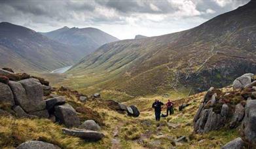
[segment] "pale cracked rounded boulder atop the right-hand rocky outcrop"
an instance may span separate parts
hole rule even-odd
[[[249,74],[236,78],[233,82],[233,89],[236,90],[244,88],[247,84],[251,84],[251,76],[249,76]]]

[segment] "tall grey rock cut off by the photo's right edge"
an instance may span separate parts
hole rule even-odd
[[[256,100],[246,101],[244,122],[242,124],[243,140],[256,146]]]

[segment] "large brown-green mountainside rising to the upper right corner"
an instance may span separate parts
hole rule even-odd
[[[227,86],[256,72],[255,18],[256,1],[250,1],[186,31],[105,44],[68,73],[85,82],[74,86],[84,92],[146,95]]]

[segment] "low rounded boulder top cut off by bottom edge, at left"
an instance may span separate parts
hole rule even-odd
[[[20,144],[16,149],[60,149],[59,146],[43,141],[26,141]]]

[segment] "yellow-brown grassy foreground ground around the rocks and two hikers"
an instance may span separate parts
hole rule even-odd
[[[191,135],[192,118],[204,93],[190,97],[178,93],[170,93],[168,98],[161,96],[137,97],[126,104],[136,105],[141,110],[139,118],[119,114],[104,107],[101,101],[88,101],[84,104],[70,93],[58,92],[58,94],[65,95],[68,103],[75,108],[90,109],[90,112],[80,111],[79,118],[81,120],[94,119],[100,122],[101,131],[106,137],[99,142],[86,142],[76,137],[64,135],[61,130],[64,126],[54,124],[50,120],[17,119],[5,116],[0,117],[1,148],[14,148],[28,140],[52,142],[62,148],[168,148],[172,146],[172,141],[181,135],[189,136],[191,141],[180,144],[177,148],[219,148],[219,146],[238,136],[236,130],[229,129],[212,131],[206,135]],[[168,118],[162,118],[160,122],[155,122],[151,103],[155,99],[166,102],[169,98],[174,100],[175,114]],[[181,103],[191,103],[191,105],[185,108],[183,112],[179,112],[177,107]],[[96,111],[99,113],[98,116],[91,115],[95,114]],[[167,122],[181,124],[181,127],[177,129],[169,128]],[[149,123],[149,125],[146,123]],[[156,124],[161,126],[157,128]],[[115,130],[119,131],[116,138],[120,140],[119,144],[112,143]],[[163,135],[158,135],[158,133]],[[152,144],[154,141],[160,141],[161,143],[160,145],[154,145]]]

